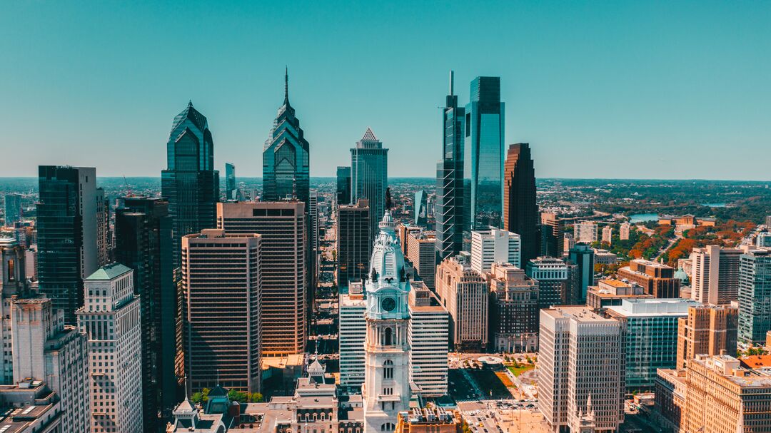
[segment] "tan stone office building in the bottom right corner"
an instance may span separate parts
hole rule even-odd
[[[771,378],[729,355],[699,355],[685,372],[682,431],[771,431]]]

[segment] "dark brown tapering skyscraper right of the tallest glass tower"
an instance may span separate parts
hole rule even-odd
[[[503,169],[503,230],[522,237],[525,262],[538,257],[538,205],[535,202],[535,168],[530,145],[509,146]]]

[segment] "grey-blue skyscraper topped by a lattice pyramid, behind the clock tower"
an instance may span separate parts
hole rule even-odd
[[[388,149],[367,128],[356,147],[351,149],[351,203],[369,201],[372,215],[369,233],[378,233],[378,221],[385,212],[385,189],[388,188]]]

